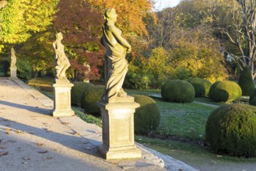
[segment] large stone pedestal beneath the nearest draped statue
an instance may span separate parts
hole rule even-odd
[[[105,159],[142,157],[134,142],[134,113],[139,103],[132,96],[117,97],[117,103],[98,102],[102,114],[103,145],[98,151]]]

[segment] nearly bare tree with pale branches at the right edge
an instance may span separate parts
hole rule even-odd
[[[230,54],[233,61],[237,61],[240,68],[248,65],[251,68],[253,78],[256,78],[254,67],[256,54],[256,2],[247,0],[221,1],[218,6],[226,9],[226,15],[219,16],[214,11],[216,5],[209,0],[203,0],[208,5],[209,16],[214,23],[217,23],[216,30],[219,30],[226,39],[230,40],[230,46],[226,46],[226,52]],[[222,21],[226,21],[223,23]],[[234,48],[236,47],[236,48]]]

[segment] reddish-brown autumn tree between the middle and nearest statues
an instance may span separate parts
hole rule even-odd
[[[101,26],[103,17],[87,1],[61,0],[58,13],[54,19],[55,32],[64,35],[63,44],[72,64],[73,79],[82,79],[89,69],[89,79],[99,79],[103,59],[103,48],[100,47]]]

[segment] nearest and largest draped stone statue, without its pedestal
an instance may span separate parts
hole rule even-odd
[[[104,13],[104,20],[103,36],[100,42],[106,48],[104,57],[106,88],[102,100],[113,103],[117,96],[127,95],[122,89],[124,77],[128,72],[128,62],[125,55],[131,52],[132,47],[127,40],[121,37],[121,30],[114,25],[117,21],[117,14],[114,9],[108,9]]]

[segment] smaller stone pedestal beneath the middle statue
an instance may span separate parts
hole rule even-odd
[[[55,83],[54,87],[54,109],[53,117],[70,117],[75,115],[71,109],[71,88],[74,86],[70,82]]]

